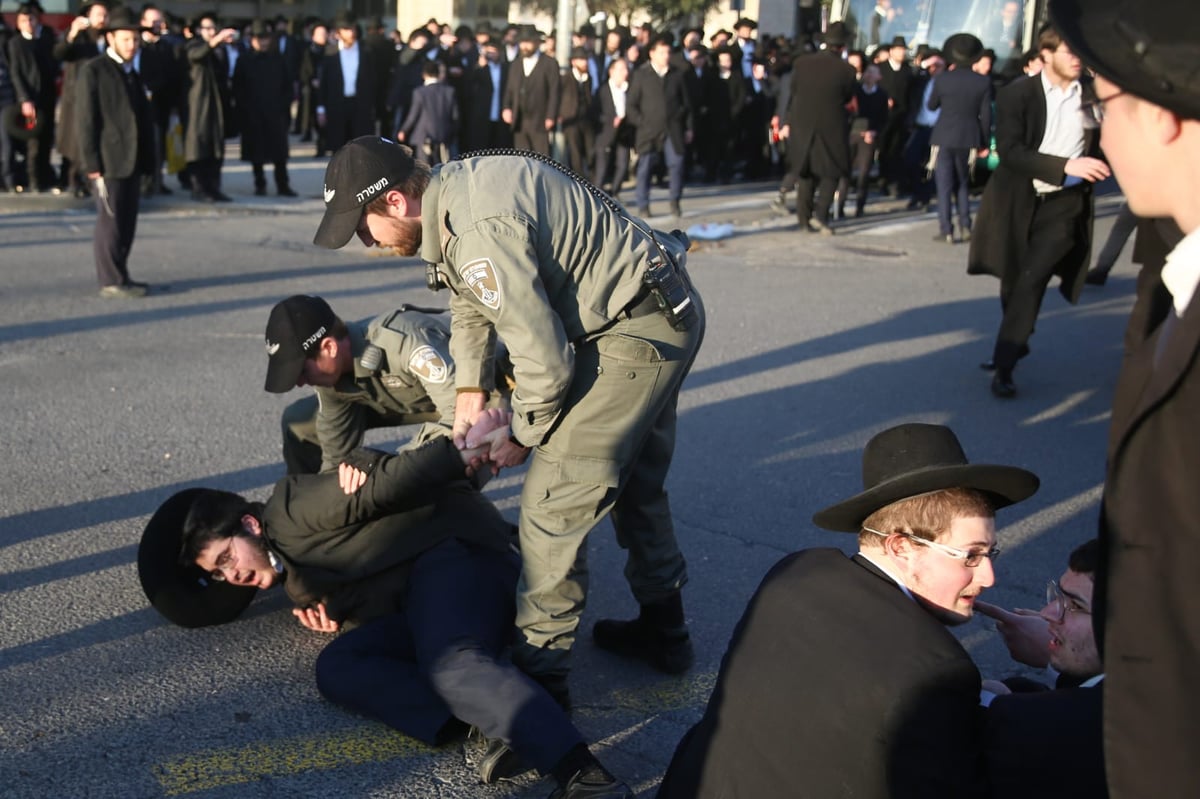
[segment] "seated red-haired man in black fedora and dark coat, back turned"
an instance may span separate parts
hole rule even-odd
[[[947,626],[994,582],[995,511],[1038,479],[910,423],[868,441],[863,485],[812,517],[857,533],[858,554],[770,570],[659,799],[983,794],[979,672]]]

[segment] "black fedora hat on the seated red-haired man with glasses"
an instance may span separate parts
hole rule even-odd
[[[973,488],[1000,509],[1031,497],[1038,483],[1036,474],[1018,467],[968,463],[949,427],[899,425],[877,433],[863,449],[863,491],[818,511],[812,523],[858,533],[881,507],[944,488]]]

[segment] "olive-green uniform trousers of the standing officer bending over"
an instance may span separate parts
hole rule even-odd
[[[677,593],[688,567],[664,487],[674,452],[679,388],[704,336],[704,308],[677,331],[661,313],[618,319],[575,344],[562,415],[533,452],[521,494],[514,660],[565,674],[587,600],[586,539],[610,511],[638,603]],[[522,641],[523,639],[523,641]]]

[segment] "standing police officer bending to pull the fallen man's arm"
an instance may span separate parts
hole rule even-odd
[[[358,234],[367,246],[420,252],[431,287],[451,289],[460,446],[475,440],[496,336],[509,347],[511,438],[497,439],[488,458],[511,467],[536,449],[521,498],[517,662],[569,703],[584,539],[611,511],[641,613],[599,621],[596,644],[668,673],[690,667],[686,565],[664,489],[679,388],[704,331],[685,238],[649,229],[530,154],[431,173],[408,148],[362,137],[330,161],[325,197],[317,245]]]

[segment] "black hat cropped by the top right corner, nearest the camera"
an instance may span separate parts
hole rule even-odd
[[[1200,2],[1050,0],[1050,20],[1099,76],[1200,119]]]

